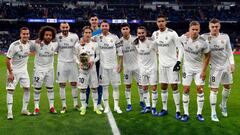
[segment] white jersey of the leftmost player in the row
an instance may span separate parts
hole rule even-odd
[[[20,40],[13,42],[7,52],[7,57],[11,58],[11,67],[14,72],[27,70],[28,57],[32,42],[23,44]]]

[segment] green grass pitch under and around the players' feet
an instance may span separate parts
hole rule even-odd
[[[210,118],[209,88],[206,81],[205,102],[203,116],[205,122],[196,120],[197,102],[195,86],[191,87],[190,92],[190,120],[186,123],[175,119],[175,105],[172,98],[172,91],[169,90],[168,110],[166,117],[153,117],[151,114],[140,114],[139,96],[134,83],[132,89],[132,112],[125,112],[126,100],[124,94],[124,85],[120,86],[120,107],[123,114],[113,112],[116,123],[122,135],[239,135],[240,134],[240,77],[238,70],[240,56],[235,55],[236,70],[234,73],[234,84],[230,98],[228,100],[229,117],[221,116],[220,109],[217,105],[217,114],[220,122],[212,122]],[[56,66],[56,64],[55,64]],[[33,73],[33,57],[29,58],[28,63],[30,78]],[[32,79],[32,78],[31,78]],[[208,78],[207,78],[208,79]],[[22,116],[23,90],[18,86],[14,94],[13,113],[14,120],[7,120],[6,104],[6,64],[5,56],[0,55],[0,135],[109,135],[112,134],[111,127],[108,123],[107,115],[97,115],[93,113],[92,102],[87,109],[85,116],[80,116],[78,111],[73,110],[72,96],[70,87],[66,88],[68,112],[66,114],[50,114],[47,100],[46,89],[41,92],[40,115],[39,116]],[[159,88],[159,87],[158,87]],[[182,92],[182,87],[180,86]],[[60,111],[61,101],[59,96],[59,87],[55,84],[55,107]],[[221,99],[221,90],[218,94],[218,104]],[[111,91],[112,92],[112,91]],[[110,92],[110,106],[113,110],[112,93]],[[160,89],[157,110],[162,108]],[[182,96],[181,96],[182,97]],[[33,112],[33,89],[31,88],[31,100],[29,110]],[[182,101],[181,101],[181,111]]]

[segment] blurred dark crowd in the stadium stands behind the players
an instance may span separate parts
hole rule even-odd
[[[240,35],[239,28],[234,28],[235,26],[239,26],[238,24],[240,23],[240,6],[237,2],[229,8],[219,8],[215,4],[221,1],[217,0],[211,0],[212,4],[210,5],[208,4],[209,1],[206,3],[204,0],[197,0],[194,2],[189,0],[168,0],[167,2],[169,3],[179,3],[179,8],[176,10],[166,5],[156,5],[154,9],[144,7],[143,3],[151,3],[153,0],[91,1],[95,3],[92,6],[83,6],[81,5],[83,1],[79,0],[69,0],[67,1],[68,3],[64,0],[18,0],[18,2],[22,2],[22,4],[18,5],[14,3],[0,3],[0,20],[16,19],[17,21],[26,22],[27,18],[71,18],[77,19],[77,22],[86,23],[88,17],[92,13],[95,13],[100,19],[137,19],[154,21],[159,14],[165,14],[168,16],[170,26],[172,25],[173,29],[181,35],[186,32],[188,27],[187,24],[191,20],[197,20],[205,24],[203,32],[207,32],[207,22],[214,17],[225,22],[223,32],[230,35],[233,47],[237,48],[236,50],[240,50],[240,36],[238,36]],[[99,7],[96,3],[102,3],[103,6]],[[187,6],[184,6],[184,4],[182,5],[182,3]],[[189,6],[189,4],[193,6]],[[196,4],[199,6],[196,7]],[[201,6],[202,4],[205,5]],[[234,22],[235,26],[229,22]],[[18,39],[18,30],[22,25],[19,23],[11,24],[11,22],[5,25],[2,21],[0,21],[0,23],[0,50],[6,51],[9,44]],[[185,27],[182,27],[182,24],[184,24]],[[85,24],[73,25],[75,26],[72,31],[78,32]],[[149,33],[157,29],[155,23],[145,23],[144,25],[149,29]],[[135,25],[133,25],[133,27],[134,26]],[[58,28],[58,26],[55,27]],[[37,36],[39,28],[39,24],[31,25],[32,38]],[[112,32],[119,35],[119,26],[116,25],[116,27],[112,28]]]

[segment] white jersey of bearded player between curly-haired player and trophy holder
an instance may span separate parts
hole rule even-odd
[[[74,62],[74,46],[79,41],[77,34],[69,32],[65,37],[59,33],[56,40],[58,42],[58,61]]]

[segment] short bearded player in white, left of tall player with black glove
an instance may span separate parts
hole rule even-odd
[[[157,92],[157,55],[156,48],[152,39],[146,37],[147,31],[143,26],[138,27],[138,38],[134,41],[133,46],[138,52],[138,65],[140,69],[140,85],[143,87],[143,98],[146,104],[141,113],[149,113],[150,107],[150,94],[148,85],[152,87],[152,115],[157,116],[156,111],[158,92]]]

